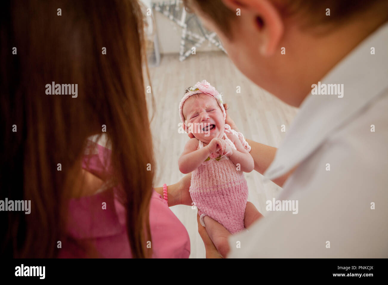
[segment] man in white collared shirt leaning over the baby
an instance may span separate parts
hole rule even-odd
[[[248,141],[256,171],[283,191],[265,218],[229,238],[227,257],[388,257],[387,4],[326,10],[334,19],[315,27],[302,12],[284,16],[281,2],[222,0],[241,12],[225,12],[228,28],[191,6],[246,76],[300,107],[278,150]]]

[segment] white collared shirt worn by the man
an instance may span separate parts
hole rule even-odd
[[[342,98],[305,98],[264,173],[272,180],[300,164],[276,197],[297,214],[263,213],[229,238],[228,257],[388,257],[387,52],[385,23],[321,79],[343,84]]]

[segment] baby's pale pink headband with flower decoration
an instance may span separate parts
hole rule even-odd
[[[185,123],[185,117],[183,116],[183,104],[191,95],[198,94],[198,93],[204,93],[204,94],[210,95],[211,97],[217,100],[217,103],[220,106],[223,113],[223,119],[225,121],[226,112],[222,103],[222,95],[218,93],[216,88],[211,86],[208,81],[202,80],[201,82],[197,82],[194,86],[186,88],[185,95],[183,96],[182,100],[180,100],[179,116],[182,123]]]

